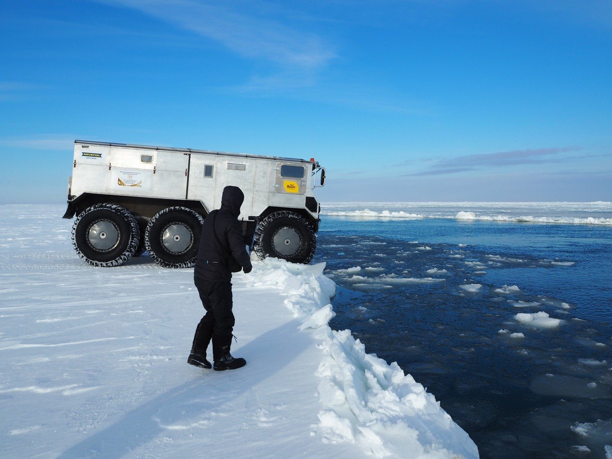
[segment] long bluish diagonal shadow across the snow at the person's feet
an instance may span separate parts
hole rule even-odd
[[[120,457],[154,439],[166,430],[166,426],[193,426],[194,419],[203,419],[208,412],[257,386],[299,356],[312,341],[307,334],[300,333],[297,325],[297,321],[292,320],[237,348],[236,355],[247,359],[247,366],[239,370],[213,372],[190,367],[193,371],[201,371],[200,377],[132,409],[122,419],[73,445],[58,458]],[[218,384],[220,379],[222,384]],[[206,424],[206,421],[200,422]]]

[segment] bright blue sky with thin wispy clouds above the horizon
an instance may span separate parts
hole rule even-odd
[[[0,5],[0,203],[75,139],[315,157],[323,201],[612,200],[612,3]]]

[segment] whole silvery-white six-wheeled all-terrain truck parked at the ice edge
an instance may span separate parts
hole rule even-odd
[[[163,267],[190,267],[204,217],[226,185],[240,187],[245,243],[259,258],[308,263],[321,206],[314,159],[75,141],[68,209],[72,243],[93,266],[119,266],[146,250]]]

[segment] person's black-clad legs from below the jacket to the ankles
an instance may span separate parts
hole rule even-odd
[[[231,345],[234,330],[234,313],[232,312],[231,282],[208,282],[201,277],[194,276],[193,282],[206,315],[201,319],[195,330],[192,348],[206,355],[206,349],[212,338],[213,359],[218,360],[222,348]]]

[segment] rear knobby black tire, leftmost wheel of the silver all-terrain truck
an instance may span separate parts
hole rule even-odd
[[[94,204],[76,217],[72,245],[92,266],[111,267],[132,258],[140,242],[134,216],[117,204]]]

